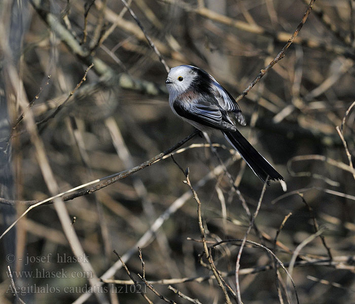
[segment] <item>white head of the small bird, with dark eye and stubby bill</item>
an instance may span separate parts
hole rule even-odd
[[[196,67],[179,65],[170,69],[166,79],[166,88],[170,97],[184,93],[197,77]]]

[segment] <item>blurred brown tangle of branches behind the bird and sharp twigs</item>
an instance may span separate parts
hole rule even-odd
[[[199,66],[234,97],[280,52],[309,5],[308,0],[127,2],[169,67]],[[279,182],[266,188],[255,220],[259,233],[252,229],[247,239],[270,248],[286,268],[297,257],[292,277],[302,303],[354,302],[355,110],[349,108],[355,99],[354,16],[354,1],[317,0],[285,58],[239,101],[247,121],[240,132],[287,184],[286,192]],[[30,103],[60,191],[137,166],[194,131],[173,115],[164,65],[118,0],[3,0],[0,75],[2,233],[30,204],[51,196],[19,119],[21,96]],[[190,169],[207,245],[243,239],[250,219],[242,202],[254,213],[263,188],[220,134],[211,140],[230,175],[203,137],[174,154]],[[201,303],[224,302],[207,260],[199,258],[197,204],[185,179],[167,157],[65,203],[84,262],[103,275],[96,286],[102,297],[89,295],[93,274],[80,267],[53,205],[32,209],[1,240],[1,302],[16,301],[8,265],[26,303],[138,303],[145,301],[139,286],[162,302],[136,275],[143,273],[138,246],[148,281],[176,279],[152,283],[168,300],[189,302],[168,289],[171,285]],[[314,236],[318,230],[323,238]],[[234,292],[239,245],[211,251]],[[113,250],[124,256],[137,286],[130,285]],[[276,275],[265,250],[246,244],[240,266],[244,303],[297,302],[285,271]]]

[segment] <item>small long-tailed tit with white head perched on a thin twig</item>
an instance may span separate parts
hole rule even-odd
[[[262,181],[283,180],[283,177],[240,134],[236,121],[245,126],[245,118],[231,94],[210,74],[191,65],[170,69],[166,79],[172,111],[202,132],[221,130]]]

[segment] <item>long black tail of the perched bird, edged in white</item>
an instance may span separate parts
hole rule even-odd
[[[240,156],[263,182],[266,181],[268,175],[272,180],[283,180],[283,177],[260,155],[238,130],[235,132],[222,132],[229,143],[239,152]]]

